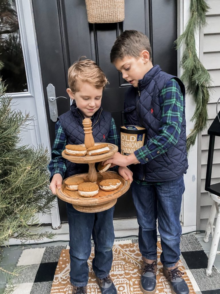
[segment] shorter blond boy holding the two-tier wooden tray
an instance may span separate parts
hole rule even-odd
[[[75,101],[71,110],[62,114],[56,123],[56,138],[52,147],[52,160],[49,164],[51,173],[50,188],[56,194],[61,188],[62,179],[88,172],[87,164],[66,161],[61,152],[67,144],[84,143],[82,121],[92,120],[92,134],[95,142],[109,142],[118,145],[118,135],[114,119],[109,112],[101,108],[102,91],[107,83],[106,76],[92,60],[75,62],[68,71],[67,93]],[[119,173],[126,180],[132,181],[128,168],[119,167]],[[83,213],[67,203],[67,215],[70,229],[70,282],[72,293],[87,293],[87,260],[91,252],[91,235],[95,243],[95,257],[92,268],[97,276],[101,293],[116,294],[109,271],[112,264],[112,246],[114,243],[113,227],[114,207],[98,213]]]

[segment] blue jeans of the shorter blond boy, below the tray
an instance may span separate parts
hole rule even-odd
[[[91,253],[91,236],[95,244],[95,257],[92,268],[95,275],[106,278],[111,270],[114,243],[113,227],[114,206],[98,213],[77,211],[67,203],[67,215],[70,230],[70,282],[77,286],[86,286],[89,279],[87,260]]]

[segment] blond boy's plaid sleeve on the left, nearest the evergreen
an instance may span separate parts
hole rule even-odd
[[[55,173],[60,173],[63,178],[66,171],[66,160],[62,157],[61,153],[65,149],[67,139],[60,121],[57,121],[55,125],[55,134],[55,141],[51,149],[51,161],[48,164],[48,169],[51,174],[50,181]]]

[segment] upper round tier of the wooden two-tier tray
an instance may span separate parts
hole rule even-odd
[[[103,144],[103,143],[95,143],[95,146],[100,144]],[[74,155],[67,155],[64,151],[62,151],[62,157],[74,163],[95,163],[95,162],[104,161],[111,158],[119,150],[118,146],[114,144],[111,144],[111,143],[106,143],[106,144],[108,144],[110,151],[104,154],[99,154],[99,155],[86,154],[85,156],[74,156]],[[85,146],[85,144],[80,144],[79,146]]]

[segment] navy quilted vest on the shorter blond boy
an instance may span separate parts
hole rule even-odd
[[[66,134],[67,144],[78,145],[84,143],[85,134],[82,125],[84,116],[82,112],[76,108],[76,104],[72,104],[71,110],[63,113],[58,119]],[[103,111],[100,107],[92,119],[92,135],[94,141],[106,143],[109,138],[110,126],[111,113]],[[67,171],[64,178],[78,173],[87,173],[89,171],[89,165],[87,163],[73,163],[67,160],[66,167]]]

